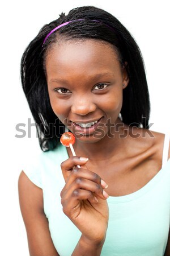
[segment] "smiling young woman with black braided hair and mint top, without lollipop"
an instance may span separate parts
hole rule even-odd
[[[170,255],[169,136],[148,130],[126,28],[92,6],[61,14],[25,50],[22,85],[43,151],[19,177],[30,254]],[[66,129],[77,156],[59,142]]]

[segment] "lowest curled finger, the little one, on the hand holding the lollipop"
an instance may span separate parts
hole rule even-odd
[[[97,203],[93,193],[84,189],[75,189],[67,200],[61,200],[63,212],[69,216],[77,211],[80,206],[80,200],[88,200],[91,203]]]

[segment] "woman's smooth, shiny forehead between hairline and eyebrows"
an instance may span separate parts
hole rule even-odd
[[[109,73],[116,66],[120,67],[116,50],[97,40],[59,43],[46,56],[46,72],[101,69]]]

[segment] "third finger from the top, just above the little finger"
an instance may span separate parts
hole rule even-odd
[[[94,181],[83,179],[82,177],[78,177],[75,179],[73,183],[70,184],[70,186],[63,192],[62,197],[65,197],[65,200],[67,200],[73,191],[76,189],[86,189],[88,191],[91,191],[94,193],[94,195],[100,197],[101,199],[107,199],[108,195],[106,192],[103,191],[103,188],[101,187],[101,184],[97,184]]]

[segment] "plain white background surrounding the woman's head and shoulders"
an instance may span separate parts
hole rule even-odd
[[[1,249],[3,256],[27,256],[28,246],[18,201],[18,176],[30,155],[40,152],[35,127],[31,138],[16,138],[17,123],[32,118],[20,83],[20,59],[44,24],[63,11],[94,5],[116,16],[136,39],[145,60],[151,98],[151,130],[170,133],[168,1],[74,0],[1,3]],[[33,123],[33,119],[32,119]]]

